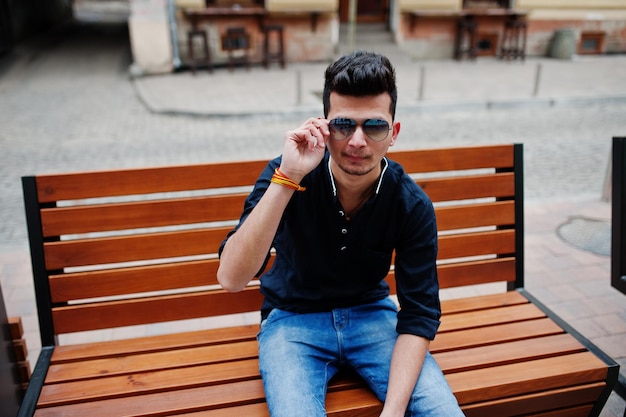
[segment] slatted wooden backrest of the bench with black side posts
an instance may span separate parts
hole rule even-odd
[[[442,288],[523,286],[521,145],[389,158],[435,202]],[[42,344],[65,333],[258,311],[258,283],[227,293],[216,270],[218,247],[265,165],[24,177]]]

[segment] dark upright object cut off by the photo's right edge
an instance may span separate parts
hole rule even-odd
[[[611,285],[626,294],[626,137],[613,138]]]

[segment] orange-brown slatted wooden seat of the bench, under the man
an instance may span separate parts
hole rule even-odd
[[[522,293],[448,300],[442,308],[441,331],[431,352],[467,416],[502,416],[511,407],[533,413],[546,401],[551,407],[567,405],[562,415],[589,415],[605,388],[606,364]],[[59,346],[36,415],[159,415],[167,410],[266,416],[257,331],[258,326],[247,325]],[[581,377],[586,383],[568,386]],[[346,397],[350,413],[358,413],[345,414]],[[243,414],[229,414],[233,406]],[[381,408],[350,374],[331,385],[328,406],[333,416],[374,416]]]

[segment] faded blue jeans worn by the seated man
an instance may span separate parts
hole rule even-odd
[[[398,337],[396,315],[390,299],[322,313],[272,310],[258,336],[259,366],[271,416],[325,416],[328,381],[345,366],[384,401]],[[463,416],[430,353],[406,416]]]

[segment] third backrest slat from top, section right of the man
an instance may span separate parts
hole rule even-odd
[[[437,228],[440,232],[472,227],[505,226],[515,224],[515,202],[496,201],[436,208]]]

